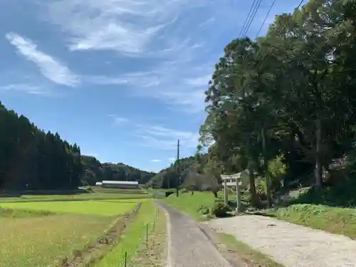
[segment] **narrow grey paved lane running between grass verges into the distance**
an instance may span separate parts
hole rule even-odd
[[[159,202],[168,214],[169,267],[231,267],[196,222]]]

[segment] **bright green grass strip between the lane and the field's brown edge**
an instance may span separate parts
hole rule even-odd
[[[120,236],[120,242],[108,253],[95,267],[120,267],[124,266],[125,253],[127,261],[135,256],[142,242],[145,242],[146,231],[152,231],[157,218],[157,206],[152,201],[145,201],[135,220],[132,221]],[[148,227],[148,228],[147,228]]]

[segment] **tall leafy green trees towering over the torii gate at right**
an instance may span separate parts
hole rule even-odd
[[[215,141],[210,166],[225,173],[231,166],[249,169],[252,204],[256,191],[271,202],[274,191],[295,181],[316,188],[343,184],[356,193],[350,174],[355,170],[355,1],[311,0],[294,15],[277,16],[266,36],[239,37],[224,49],[206,90],[208,115],[200,141]]]

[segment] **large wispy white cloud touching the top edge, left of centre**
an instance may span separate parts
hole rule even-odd
[[[204,1],[188,0],[60,0],[47,4],[47,19],[68,33],[73,51],[106,50],[130,56],[151,56],[169,48],[154,49],[152,42],[167,33],[185,6]]]

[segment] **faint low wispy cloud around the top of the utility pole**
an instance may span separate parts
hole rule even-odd
[[[197,147],[199,134],[182,130],[169,129],[161,125],[137,125],[135,137],[142,140],[142,145],[161,150],[177,150],[177,140],[184,148]]]

